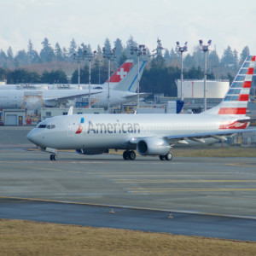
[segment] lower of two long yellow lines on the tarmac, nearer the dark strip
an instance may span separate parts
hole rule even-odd
[[[256,189],[128,189],[129,193],[149,193],[149,194],[157,194],[157,193],[183,193],[183,192],[236,192],[236,191],[256,191]]]

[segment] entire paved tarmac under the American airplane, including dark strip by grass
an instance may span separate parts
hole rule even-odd
[[[0,218],[256,241],[256,158],[50,161],[30,129],[0,127]]]

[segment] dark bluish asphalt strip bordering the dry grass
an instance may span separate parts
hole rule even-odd
[[[1,218],[256,241],[256,220],[247,218],[184,212],[168,218],[170,213],[161,211],[3,198],[0,205]]]

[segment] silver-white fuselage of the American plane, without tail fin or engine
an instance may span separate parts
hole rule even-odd
[[[44,120],[40,125],[55,128],[35,128],[28,138],[42,148],[131,149],[136,148],[132,142],[137,138],[160,137],[172,143],[176,136],[221,131],[220,125],[232,121],[235,119],[204,114],[79,114]]]

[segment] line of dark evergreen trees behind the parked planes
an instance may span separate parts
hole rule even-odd
[[[175,79],[180,78],[180,55],[175,48],[166,49],[157,41],[156,49],[147,49],[148,64],[141,79],[141,90],[152,93],[164,93],[166,96],[176,96],[177,88]],[[133,59],[137,62],[137,55],[131,55],[131,46],[138,44],[131,36],[126,44],[117,38],[111,45],[108,38],[104,42],[106,51],[115,49],[111,70],[114,72],[125,60]],[[78,83],[78,62],[80,62],[80,82],[88,84],[89,67],[88,61],[84,59],[84,51],[92,53],[90,44],[76,44],[72,39],[69,48],[61,48],[56,43],[55,48],[44,38],[40,52],[34,49],[32,41],[29,40],[27,50],[19,50],[13,54],[11,47],[7,53],[0,49],[0,80],[6,79],[8,84],[19,83],[47,83],[47,84],[77,84]],[[152,54],[154,52],[154,54]],[[230,79],[236,75],[242,61],[249,55],[247,46],[239,54],[236,49],[230,46],[224,50],[221,57],[217,50],[212,49],[207,53],[207,79]],[[143,56],[142,56],[143,57]],[[44,65],[51,67],[51,70],[43,70]],[[61,65],[68,63],[72,65],[63,70]],[[91,67],[91,84],[102,84],[108,79],[108,60],[103,58],[102,47],[97,46],[96,58],[93,59]],[[44,65],[43,65],[44,64]],[[27,67],[41,67],[40,72],[29,71]],[[200,46],[189,50],[183,55],[183,78],[203,79],[204,54]]]

